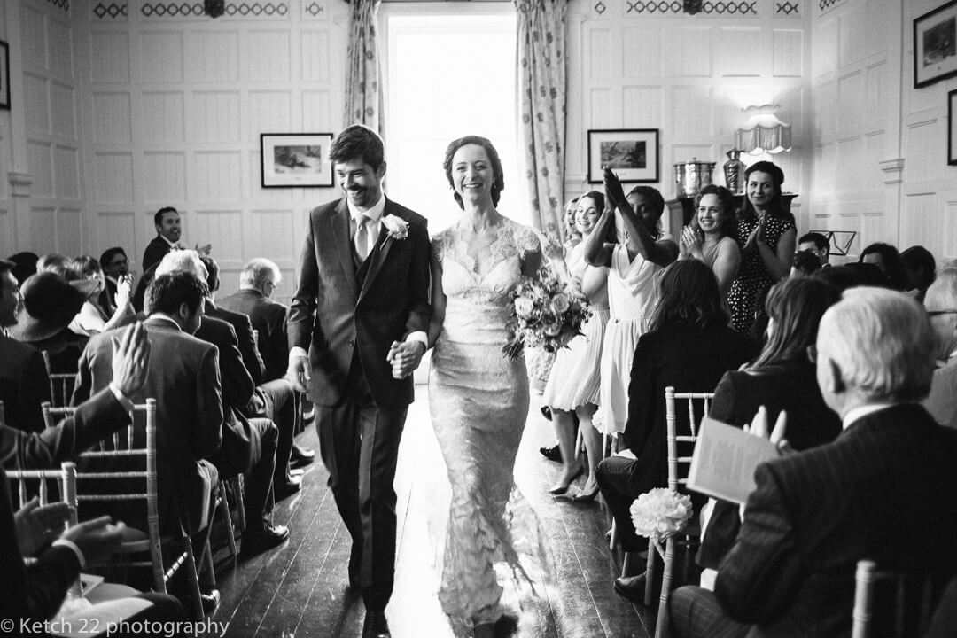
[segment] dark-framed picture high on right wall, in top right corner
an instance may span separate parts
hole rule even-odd
[[[957,0],[914,20],[914,88],[957,76]]]

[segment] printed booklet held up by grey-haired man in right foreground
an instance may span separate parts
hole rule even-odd
[[[744,503],[754,490],[754,470],[777,458],[777,447],[760,436],[704,417],[688,473],[688,489]]]

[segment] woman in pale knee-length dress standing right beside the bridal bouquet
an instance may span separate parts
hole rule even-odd
[[[583,238],[595,230],[604,209],[605,196],[600,192],[592,190],[579,198],[575,228]],[[614,229],[609,226],[608,230],[612,236],[606,237],[606,241],[613,242]],[[608,268],[586,263],[584,248],[584,243],[572,248],[566,256],[566,263],[568,275],[589,299],[591,317],[582,325],[582,334],[555,356],[542,399],[551,409],[551,420],[564,462],[562,476],[551,489],[552,494],[565,494],[571,481],[582,472],[574,450],[576,416],[578,427],[582,429],[589,458],[589,479],[585,489],[572,496],[573,500],[591,500],[598,494],[594,472],[602,455],[601,435],[591,425],[591,417],[597,408],[601,388],[599,367],[605,324],[608,323]]]

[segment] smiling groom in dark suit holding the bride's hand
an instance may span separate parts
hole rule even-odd
[[[425,353],[431,247],[426,220],[383,195],[386,162],[375,132],[349,126],[329,160],[345,198],[309,213],[286,376],[316,404],[329,488],[352,536],[349,585],[366,604],[363,638],[389,636],[392,480],[413,391],[412,376],[393,378],[391,362],[415,367]]]

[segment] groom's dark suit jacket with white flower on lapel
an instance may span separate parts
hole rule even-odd
[[[388,215],[405,220],[409,236],[389,237],[383,225],[357,269],[345,199],[309,213],[288,329],[289,346],[309,351],[309,396],[320,406],[339,403],[354,350],[378,406],[412,403],[412,377],[392,379],[386,355],[392,341],[429,328],[432,249],[424,217],[387,199],[383,218]]]

